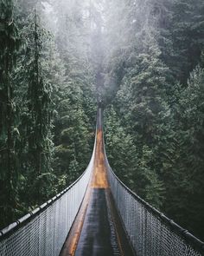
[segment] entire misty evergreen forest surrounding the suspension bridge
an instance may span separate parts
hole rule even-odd
[[[204,240],[203,0],[0,0],[0,229],[84,172],[98,99],[113,171]]]

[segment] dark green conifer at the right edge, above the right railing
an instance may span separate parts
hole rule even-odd
[[[172,124],[175,139],[172,145],[174,154],[171,154],[173,171],[170,173],[167,169],[164,174],[164,179],[168,181],[166,210],[175,217],[175,220],[180,221],[183,226],[188,226],[192,232],[201,237],[204,213],[201,202],[204,195],[203,89],[204,71],[198,66],[190,75],[188,87],[180,88],[181,93],[175,103],[175,122]]]

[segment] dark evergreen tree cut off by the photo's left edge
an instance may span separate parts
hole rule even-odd
[[[14,219],[17,203],[16,187],[18,167],[16,141],[19,132],[16,128],[15,84],[11,73],[16,62],[19,47],[18,30],[13,18],[13,1],[0,1],[0,200],[1,225]]]

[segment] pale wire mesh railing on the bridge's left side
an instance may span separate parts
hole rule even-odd
[[[56,256],[73,225],[90,181],[94,161],[61,194],[0,232],[0,256]]]

